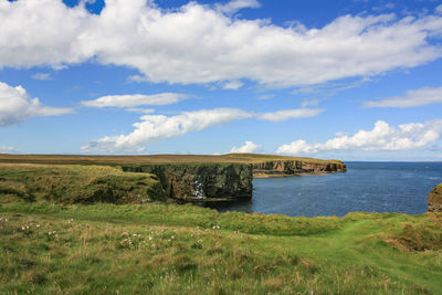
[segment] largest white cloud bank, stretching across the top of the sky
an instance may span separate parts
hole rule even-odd
[[[221,10],[256,3],[231,1]],[[136,80],[155,83],[249,78],[296,86],[413,67],[442,54],[440,14],[344,15],[323,28],[299,29],[197,2],[161,10],[154,1],[107,0],[96,15],[84,4],[20,0],[0,1],[0,67],[59,67],[93,59],[137,69]]]

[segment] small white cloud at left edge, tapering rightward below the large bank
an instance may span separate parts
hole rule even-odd
[[[30,98],[22,86],[12,87],[0,82],[0,126],[17,124],[32,117],[59,116],[69,113],[73,113],[73,109],[44,106],[39,98]]]

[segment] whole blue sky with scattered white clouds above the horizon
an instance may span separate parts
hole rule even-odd
[[[442,1],[0,0],[0,152],[442,160]]]

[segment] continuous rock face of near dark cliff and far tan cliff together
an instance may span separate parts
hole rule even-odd
[[[251,199],[253,177],[345,172],[339,161],[271,160],[257,164],[127,165],[124,171],[156,175],[168,198],[185,201]]]

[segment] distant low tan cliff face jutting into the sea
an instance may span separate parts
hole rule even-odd
[[[344,162],[304,162],[295,160],[271,160],[253,164],[255,177],[293,176],[303,173],[345,172]]]

